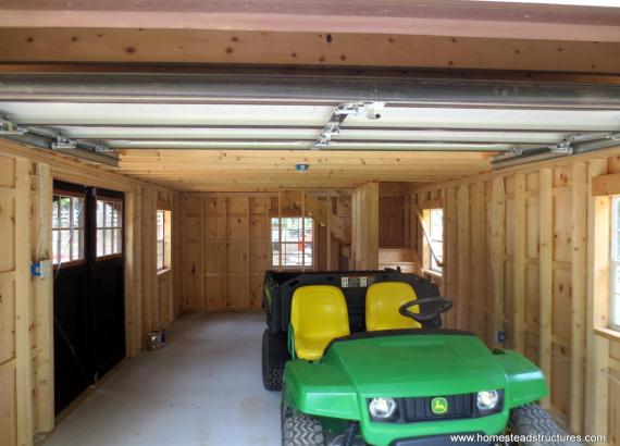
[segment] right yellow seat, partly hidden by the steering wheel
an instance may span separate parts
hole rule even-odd
[[[400,306],[418,296],[411,285],[405,282],[380,282],[369,286],[365,293],[365,327],[367,331],[420,329],[422,324],[407,318],[398,311]],[[410,309],[419,313],[418,306]]]

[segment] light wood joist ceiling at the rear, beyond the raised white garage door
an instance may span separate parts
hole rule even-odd
[[[120,151],[119,172],[179,190],[355,187],[370,181],[427,183],[487,172],[480,152],[277,150]],[[298,163],[309,164],[297,172]]]

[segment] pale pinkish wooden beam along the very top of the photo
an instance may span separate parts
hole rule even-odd
[[[474,0],[22,0],[4,2],[0,26],[237,29],[278,33],[445,35],[620,41],[616,8]]]

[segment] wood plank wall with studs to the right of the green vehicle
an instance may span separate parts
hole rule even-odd
[[[600,157],[524,165],[416,195],[444,207],[441,286],[456,303],[447,325],[523,352],[545,371],[544,405],[574,432],[607,431],[609,444],[620,445],[620,340],[594,334],[590,309],[598,280],[591,183],[620,172],[620,150]],[[609,243],[608,227],[602,231]],[[597,271],[608,277],[608,258],[602,262]]]

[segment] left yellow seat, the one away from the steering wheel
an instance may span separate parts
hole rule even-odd
[[[330,285],[308,285],[293,294],[293,342],[298,358],[314,361],[330,340],[349,334],[349,314],[343,292]]]

